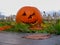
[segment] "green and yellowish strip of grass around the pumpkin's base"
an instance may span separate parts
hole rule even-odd
[[[49,34],[58,34],[60,35],[60,20],[57,20],[56,23],[49,23],[48,21],[44,22],[41,30],[31,30],[29,27],[30,24],[24,24],[16,22],[0,22],[0,26],[11,25],[12,28],[4,30],[9,32],[22,32],[22,33],[49,33]]]

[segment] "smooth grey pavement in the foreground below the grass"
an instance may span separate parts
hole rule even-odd
[[[0,32],[0,45],[60,45],[60,36],[45,40],[25,39],[25,33]]]

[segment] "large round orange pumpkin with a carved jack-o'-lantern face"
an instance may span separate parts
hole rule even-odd
[[[40,11],[31,6],[22,7],[16,15],[16,22],[34,24],[36,22],[42,23],[42,15]]]

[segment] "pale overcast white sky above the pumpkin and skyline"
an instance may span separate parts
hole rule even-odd
[[[60,10],[60,0],[0,0],[0,12],[9,16],[15,14],[21,7],[34,6],[40,11]]]

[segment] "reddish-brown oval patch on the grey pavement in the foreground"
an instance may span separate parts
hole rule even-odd
[[[48,39],[50,37],[51,36],[49,34],[31,34],[31,35],[24,36],[23,38],[43,40],[43,39]]]

